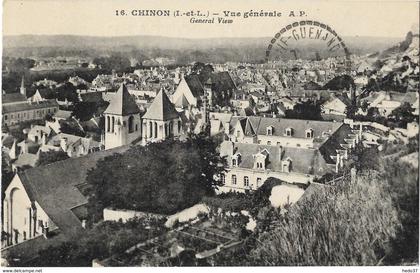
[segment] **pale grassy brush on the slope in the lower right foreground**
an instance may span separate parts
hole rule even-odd
[[[372,172],[294,206],[251,253],[259,265],[375,265],[399,227],[389,186]]]

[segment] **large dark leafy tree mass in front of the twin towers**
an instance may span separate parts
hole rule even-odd
[[[224,161],[204,136],[134,146],[98,162],[88,173],[89,210],[96,220],[106,207],[169,214],[214,194]]]

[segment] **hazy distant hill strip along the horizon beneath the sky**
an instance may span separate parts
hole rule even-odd
[[[263,54],[271,37],[259,38],[206,38],[188,39],[162,36],[121,36],[93,37],[75,35],[19,35],[4,36],[5,56],[43,55],[45,49],[59,51],[94,51],[124,52],[132,50],[174,50],[174,51],[211,51],[215,49],[245,50],[246,54]],[[397,43],[400,38],[383,37],[343,37],[352,53],[369,54],[385,50]],[[308,51],[301,53],[301,58],[313,57],[320,45],[307,41]],[[306,46],[306,45],[305,45]],[[37,50],[34,50],[37,49]],[[173,55],[174,53],[169,53]],[[243,58],[253,59],[250,56]]]

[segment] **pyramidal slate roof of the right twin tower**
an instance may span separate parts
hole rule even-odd
[[[165,91],[160,90],[147,109],[146,114],[144,114],[143,119],[170,120],[178,117],[179,114],[166,96]]]

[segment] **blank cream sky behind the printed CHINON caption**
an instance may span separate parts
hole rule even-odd
[[[4,0],[3,35],[70,34],[87,36],[156,35],[186,38],[266,37],[294,21],[318,20],[340,36],[404,37],[418,29],[416,1],[280,1],[280,0]],[[132,16],[132,10],[170,10],[169,17]],[[116,10],[129,15],[116,16]],[[231,24],[193,24],[174,17],[175,10],[222,14],[241,12]],[[243,18],[244,12],[277,11],[281,17]],[[290,17],[304,11],[304,17]]]

